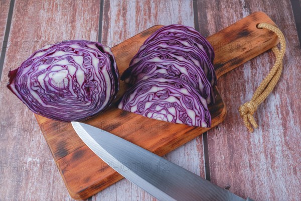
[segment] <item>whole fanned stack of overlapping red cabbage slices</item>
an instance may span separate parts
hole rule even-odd
[[[210,43],[191,27],[170,25],[152,34],[121,80],[132,86],[118,108],[189,126],[211,126],[216,75]]]

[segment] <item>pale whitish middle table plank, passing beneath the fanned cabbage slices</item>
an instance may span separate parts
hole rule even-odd
[[[122,5],[116,6],[116,1],[104,5],[103,44],[116,45],[119,41],[158,24],[179,23],[194,26],[192,1],[135,1],[131,2],[130,7],[130,10],[124,11]],[[165,158],[204,177],[202,137],[197,137],[179,147]],[[155,198],[128,180],[122,179],[97,193],[92,199],[151,200]]]

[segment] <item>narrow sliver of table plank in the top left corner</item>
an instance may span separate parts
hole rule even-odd
[[[4,44],[4,35],[6,31],[8,15],[10,10],[10,1],[0,1],[0,55]]]

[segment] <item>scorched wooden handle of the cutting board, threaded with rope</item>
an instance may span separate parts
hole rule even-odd
[[[207,38],[215,52],[217,78],[279,43],[276,34],[258,29],[259,23],[276,26],[265,13],[255,12]]]

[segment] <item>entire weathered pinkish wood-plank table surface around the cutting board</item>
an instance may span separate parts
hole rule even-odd
[[[165,158],[244,198],[300,200],[300,21],[293,13],[299,6],[288,0],[0,0],[0,200],[72,200],[33,113],[6,88],[9,70],[36,49],[70,39],[112,47],[157,24],[192,26],[207,37],[256,11],[278,25],[287,43],[280,81],[255,114],[259,129],[249,134],[237,109],[271,68],[271,51],[219,79],[226,120]],[[156,199],[122,179],[89,200]]]

